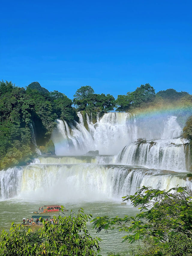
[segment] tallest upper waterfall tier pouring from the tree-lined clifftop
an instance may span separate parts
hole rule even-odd
[[[105,113],[93,124],[92,116],[86,114],[85,128],[82,114],[77,113],[79,123],[67,124],[57,119],[52,141],[56,155],[82,155],[89,150],[99,150],[102,155],[116,155],[127,144],[139,137],[147,140],[170,139],[179,136],[181,127],[176,116],[160,116],[157,120],[137,118],[130,113]]]

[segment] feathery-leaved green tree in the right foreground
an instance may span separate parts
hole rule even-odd
[[[143,243],[133,255],[192,255],[192,197],[186,187],[161,191],[143,186],[134,195],[123,197],[140,207],[136,217],[97,217],[93,228],[127,232],[123,241]]]

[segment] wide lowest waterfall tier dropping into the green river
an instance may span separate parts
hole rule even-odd
[[[40,158],[41,159],[41,158]],[[46,158],[47,159],[47,158]],[[41,161],[41,160],[40,160]],[[1,171],[1,200],[17,196],[46,200],[121,200],[140,186],[187,185],[186,175],[113,164],[30,164]]]

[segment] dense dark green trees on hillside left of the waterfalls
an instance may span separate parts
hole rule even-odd
[[[24,164],[35,153],[30,124],[35,125],[36,141],[44,145],[56,126],[55,119],[75,118],[72,101],[57,91],[49,93],[38,82],[26,90],[11,82],[0,82],[0,168]],[[54,152],[53,143],[45,145],[46,153]]]

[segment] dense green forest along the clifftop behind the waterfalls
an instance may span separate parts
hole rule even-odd
[[[75,106],[75,107],[73,107]],[[32,143],[32,127],[37,145],[43,153],[54,153],[50,136],[55,128],[55,119],[67,122],[78,121],[77,111],[97,112],[128,111],[139,113],[145,109],[161,110],[175,108],[174,114],[180,124],[192,113],[192,95],[174,89],[157,94],[149,83],[137,87],[126,95],[95,94],[91,86],[82,86],[74,94],[73,101],[61,92],[49,92],[38,82],[21,88],[11,82],[0,82],[0,168],[25,164],[36,155]],[[184,128],[184,137],[191,139],[192,119]]]

